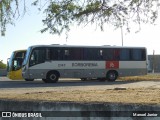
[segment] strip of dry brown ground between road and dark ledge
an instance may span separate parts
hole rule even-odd
[[[132,79],[133,80],[133,79]],[[156,78],[156,80],[160,80]],[[99,103],[134,103],[160,104],[160,88],[113,88],[95,89],[43,89],[27,88],[19,90],[0,90],[0,99],[29,101],[68,101],[68,102],[99,102]]]

